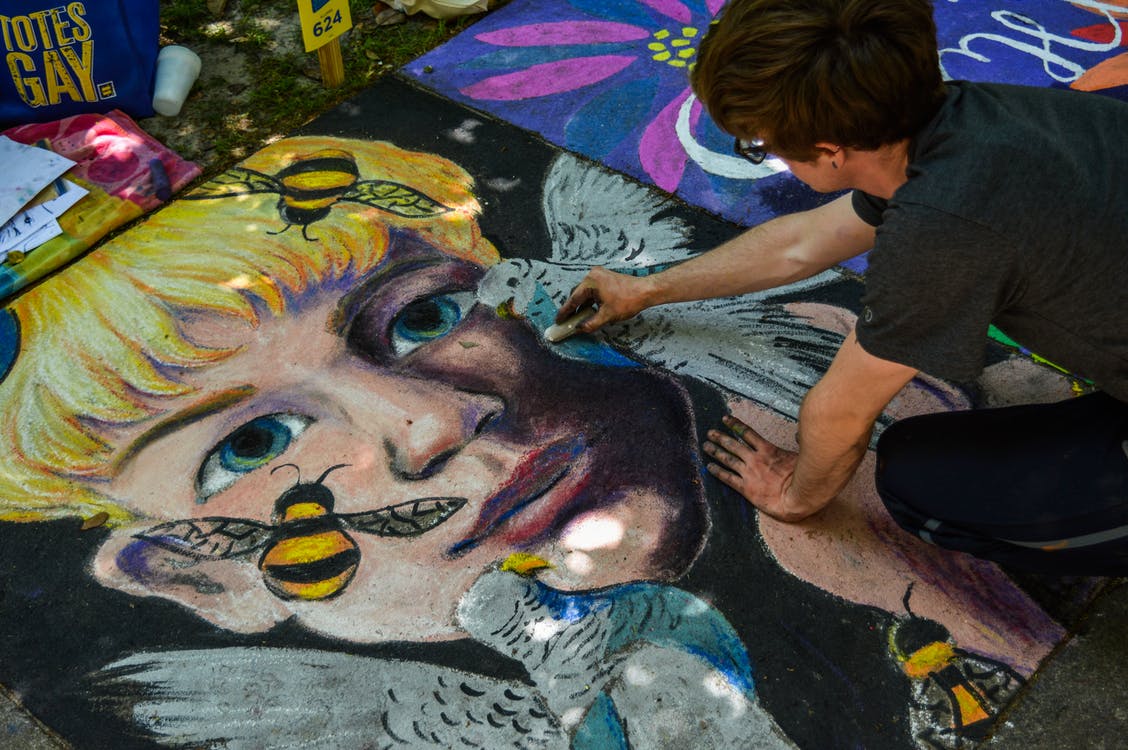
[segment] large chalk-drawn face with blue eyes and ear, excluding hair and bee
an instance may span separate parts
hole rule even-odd
[[[514,552],[552,563],[567,588],[680,573],[706,523],[682,390],[656,371],[555,356],[522,320],[476,305],[482,273],[395,232],[345,294],[257,329],[197,316],[191,341],[236,353],[187,373],[191,392],[164,399],[161,420],[117,431],[127,458],[108,484],[146,519],[266,523],[296,483],[272,469],[312,483],[336,466],[317,483],[336,514],[404,515],[431,498],[449,510],[412,533],[351,531],[359,564],[332,601],[271,595],[254,557],[201,559],[190,577],[151,531],[120,535],[100,556],[107,576],[228,627],[252,627],[240,612],[259,609],[377,641],[455,635],[459,597]],[[637,450],[640,434],[662,460]]]

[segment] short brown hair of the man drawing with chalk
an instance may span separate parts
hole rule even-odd
[[[730,0],[691,78],[721,127],[797,160],[909,138],[944,97],[929,0]]]

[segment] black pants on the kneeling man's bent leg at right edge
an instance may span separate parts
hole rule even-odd
[[[1128,575],[1128,404],[1105,394],[897,422],[878,442],[876,482],[893,519],[941,547]]]

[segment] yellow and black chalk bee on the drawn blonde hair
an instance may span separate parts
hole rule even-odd
[[[327,217],[334,204],[342,201],[363,203],[407,219],[425,219],[450,211],[449,206],[413,187],[387,179],[362,180],[356,160],[340,149],[323,149],[299,157],[275,175],[232,167],[185,198],[203,201],[254,193],[279,195],[279,215],[285,227],[271,233],[280,235],[299,226],[306,239],[311,239],[306,231],[309,224]]]

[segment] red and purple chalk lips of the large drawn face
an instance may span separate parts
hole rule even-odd
[[[587,448],[582,435],[538,448],[518,464],[509,480],[485,501],[469,533],[447,550],[458,557],[474,549],[502,523],[544,497],[572,469]]]

